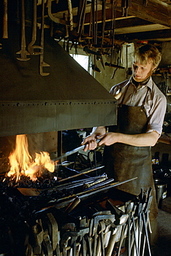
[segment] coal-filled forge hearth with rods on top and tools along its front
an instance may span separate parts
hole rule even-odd
[[[71,171],[62,167],[43,174],[37,181],[21,176],[17,183],[12,177],[1,176],[1,255],[111,255],[115,242],[129,236],[133,251],[133,223],[139,239],[142,236],[143,248],[150,192],[140,196],[125,193],[112,188],[114,182],[105,174],[94,176],[93,172],[91,176],[70,179],[66,174]],[[74,170],[73,174],[78,175]],[[92,186],[88,188],[86,184]],[[26,195],[22,189],[37,194]],[[145,221],[139,234],[141,214]]]

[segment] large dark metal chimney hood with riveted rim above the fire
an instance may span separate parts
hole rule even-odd
[[[0,49],[0,136],[116,125],[117,101],[45,31],[44,62],[39,55],[17,60],[19,26],[9,26]],[[26,44],[31,39],[26,28]]]

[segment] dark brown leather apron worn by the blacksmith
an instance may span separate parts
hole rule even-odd
[[[121,104],[118,108],[117,126],[109,127],[109,131],[123,134],[145,133],[148,125],[148,117],[144,109],[145,98],[140,107]],[[119,190],[139,195],[141,189],[152,188],[150,221],[155,219],[158,208],[152,176],[151,147],[134,147],[123,143],[105,146],[103,164],[108,177],[113,177],[115,181],[125,181],[137,177],[134,181],[119,185],[117,187]]]

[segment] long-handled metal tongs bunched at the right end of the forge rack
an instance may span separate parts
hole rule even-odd
[[[127,222],[128,256],[143,256],[145,248],[147,248],[148,254],[151,256],[148,235],[149,232],[152,233],[149,219],[150,205],[152,202],[151,192],[151,188],[145,191],[141,190],[137,202],[128,202],[125,205],[125,213],[129,216]]]

